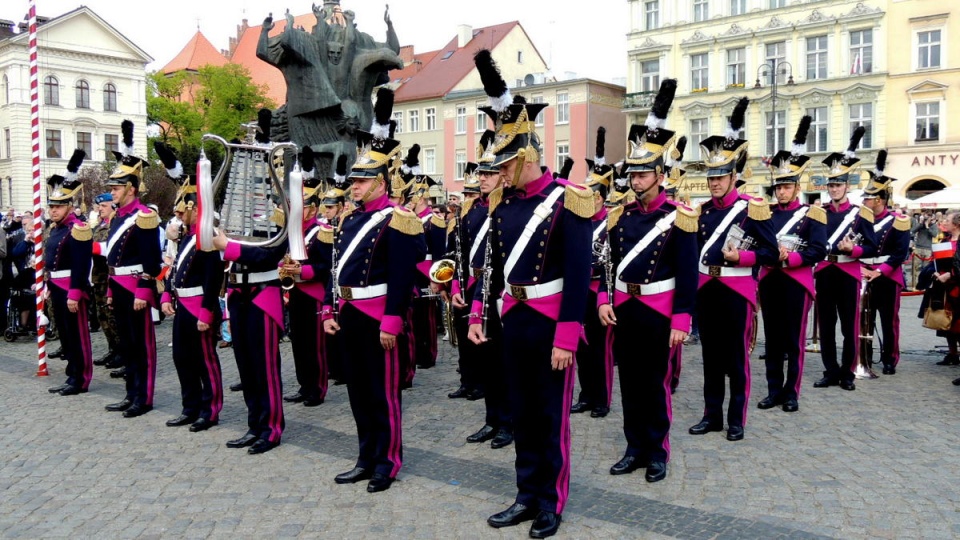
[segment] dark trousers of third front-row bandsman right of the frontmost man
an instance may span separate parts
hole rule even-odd
[[[760,280],[763,334],[766,341],[767,395],[778,401],[800,397],[807,345],[807,315],[813,301],[806,287],[781,271]],[[783,361],[787,377],[783,377]]]

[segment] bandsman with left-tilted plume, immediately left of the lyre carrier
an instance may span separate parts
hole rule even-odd
[[[173,365],[180,379],[182,409],[168,420],[170,427],[190,425],[190,431],[205,431],[220,422],[223,409],[223,376],[217,355],[217,325],[220,320],[220,286],[223,262],[216,251],[197,249],[196,178],[183,174],[183,166],[162,142],[154,149],[167,176],[182,183],[174,212],[186,234],[180,238],[174,269],[160,298],[160,309],[173,317]],[[176,304],[174,304],[176,302]]]

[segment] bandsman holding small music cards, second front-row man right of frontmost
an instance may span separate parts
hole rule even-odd
[[[710,190],[710,200],[700,206],[697,235],[700,248],[697,319],[703,347],[705,407],[703,419],[689,431],[692,435],[703,435],[723,429],[723,397],[729,375],[727,440],[730,441],[743,439],[750,398],[749,341],[757,308],[753,267],[777,260],[770,207],[737,191],[740,181],[737,177],[744,173],[748,145],[737,134],[743,127],[747,104],[747,98],[741,98],[734,108],[726,136],[715,135],[701,143]],[[733,229],[734,226],[740,231]],[[731,235],[731,231],[740,234]]]

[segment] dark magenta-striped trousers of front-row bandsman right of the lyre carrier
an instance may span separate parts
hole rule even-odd
[[[399,350],[407,345],[406,337],[401,332],[396,347],[385,350],[380,321],[350,302],[340,312],[340,329],[350,344],[347,395],[360,443],[357,466],[395,478],[403,463]]]

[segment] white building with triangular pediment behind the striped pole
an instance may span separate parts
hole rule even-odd
[[[137,154],[146,155],[146,65],[153,58],[87,7],[38,23],[43,178],[62,172],[74,148],[87,152],[85,164],[112,162],[125,118],[136,125]],[[0,20],[0,207],[18,210],[33,205],[28,46],[25,22],[15,28]]]

